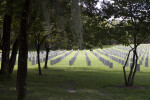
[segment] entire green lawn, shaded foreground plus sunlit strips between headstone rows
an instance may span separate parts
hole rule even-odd
[[[91,60],[91,66],[87,66],[84,51],[80,50],[74,64],[69,66],[76,52],[56,65],[51,66],[49,61],[48,69],[43,69],[42,63],[41,76],[37,65],[28,62],[27,100],[150,100],[150,66],[142,66],[136,73],[138,88],[124,88],[121,64],[101,55],[114,63],[110,69],[87,50]],[[0,100],[16,100],[16,69],[17,66],[11,79],[0,77]]]

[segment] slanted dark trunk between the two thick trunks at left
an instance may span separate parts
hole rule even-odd
[[[11,57],[9,60],[9,73],[10,74],[12,73],[15,63],[16,63],[18,46],[19,46],[19,40],[18,40],[18,38],[16,38],[15,43],[13,45],[12,54],[11,54]]]

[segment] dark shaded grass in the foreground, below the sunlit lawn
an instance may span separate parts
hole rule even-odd
[[[149,73],[138,73],[136,85],[144,89],[118,88],[123,84],[122,72],[97,69],[43,69],[39,76],[34,69],[28,71],[27,100],[148,100],[150,98]],[[83,70],[81,68],[81,70]],[[16,74],[13,74],[16,77]],[[144,77],[144,78],[143,78]],[[1,82],[0,100],[15,100],[15,78]],[[74,90],[74,93],[68,92]]]

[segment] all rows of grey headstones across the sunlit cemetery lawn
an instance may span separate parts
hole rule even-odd
[[[109,66],[109,68],[113,68],[113,62],[117,62],[121,65],[125,64],[130,49],[131,49],[130,47],[125,47],[125,46],[114,46],[113,48],[96,49],[91,51],[91,53],[95,55],[104,65]],[[66,56],[71,54],[72,51],[73,50],[69,52],[67,50],[50,51],[48,54],[48,60],[50,61],[50,65],[55,65],[61,62]],[[145,67],[149,67],[149,51],[150,51],[149,44],[138,46],[137,48],[138,61],[137,61],[137,69],[136,69],[137,71],[140,71],[140,66],[142,65],[144,65]],[[73,65],[74,62],[76,61],[79,52],[80,51],[78,49],[75,55],[73,55],[73,57],[69,60],[70,66]],[[91,66],[90,56],[87,54],[85,49],[84,49],[84,54],[85,54],[87,66]],[[41,51],[40,63],[45,62],[45,59],[46,59],[46,52]],[[0,53],[0,61],[1,60],[2,60],[2,54]],[[28,61],[31,62],[32,65],[36,65],[38,63],[37,53],[28,52]],[[17,64],[17,59],[15,64]],[[126,63],[126,66],[129,66],[131,68],[132,64],[133,64],[133,52],[131,52],[129,59]]]

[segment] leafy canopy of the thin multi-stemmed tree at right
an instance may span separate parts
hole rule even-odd
[[[111,21],[108,30],[110,37],[124,45],[133,43],[135,35],[138,45],[146,41],[150,35],[149,4],[150,2],[145,0],[114,0],[111,4],[106,3],[106,16],[114,16],[114,21],[121,18],[115,24]]]

